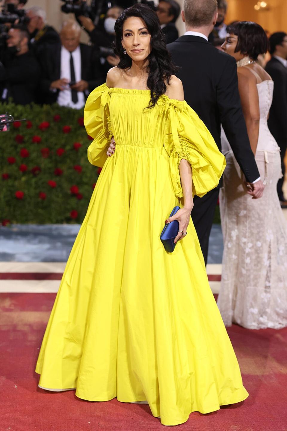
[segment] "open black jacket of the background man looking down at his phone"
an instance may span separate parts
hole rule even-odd
[[[58,99],[59,90],[54,93],[50,91],[53,81],[61,76],[61,44],[46,45],[45,56],[42,57],[41,91],[44,94],[44,103],[55,103]],[[81,79],[89,84],[91,92],[98,85],[105,82],[102,69],[99,64],[98,53],[85,44],[80,44],[81,51]],[[87,96],[87,95],[86,95]]]

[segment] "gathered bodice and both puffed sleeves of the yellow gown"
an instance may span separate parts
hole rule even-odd
[[[86,131],[94,138],[88,148],[89,161],[103,167],[114,137],[117,154],[133,151],[141,159],[148,151],[154,160],[168,161],[175,194],[182,197],[179,163],[186,159],[192,166],[193,193],[203,196],[218,184],[224,157],[185,101],[162,95],[148,108],[150,98],[149,90],[108,88],[106,84],[89,94],[84,109]]]

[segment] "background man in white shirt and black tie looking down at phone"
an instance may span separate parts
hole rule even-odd
[[[62,44],[47,45],[41,78],[44,103],[81,109],[89,93],[105,82],[97,53],[80,44],[80,31],[77,22],[64,22]]]

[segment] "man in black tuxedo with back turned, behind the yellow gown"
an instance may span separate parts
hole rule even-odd
[[[210,45],[207,39],[216,19],[216,0],[185,0],[182,20],[186,33],[169,44],[168,49],[180,68],[177,76],[182,81],[186,102],[205,123],[219,150],[222,124],[247,187],[254,198],[259,198],[264,186],[250,148],[241,109],[236,62],[233,57]],[[204,197],[194,197],[191,217],[205,263],[218,196],[219,187]]]

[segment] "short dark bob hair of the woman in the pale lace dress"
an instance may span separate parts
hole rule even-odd
[[[240,21],[228,25],[227,33],[238,36],[238,43],[235,52],[249,55],[253,60],[257,60],[259,54],[265,54],[268,50],[268,37],[256,22]]]

